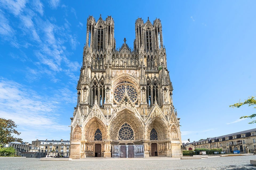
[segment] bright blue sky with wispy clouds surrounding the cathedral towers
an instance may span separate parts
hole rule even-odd
[[[255,1],[0,0],[0,117],[20,137],[69,139],[86,20],[115,22],[116,46],[133,47],[135,20],[160,18],[182,139],[197,141],[255,128]]]

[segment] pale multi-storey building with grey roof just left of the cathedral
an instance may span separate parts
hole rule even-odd
[[[47,155],[69,156],[70,141],[56,140],[36,140],[32,141],[33,148],[39,148],[39,152],[46,152]]]

